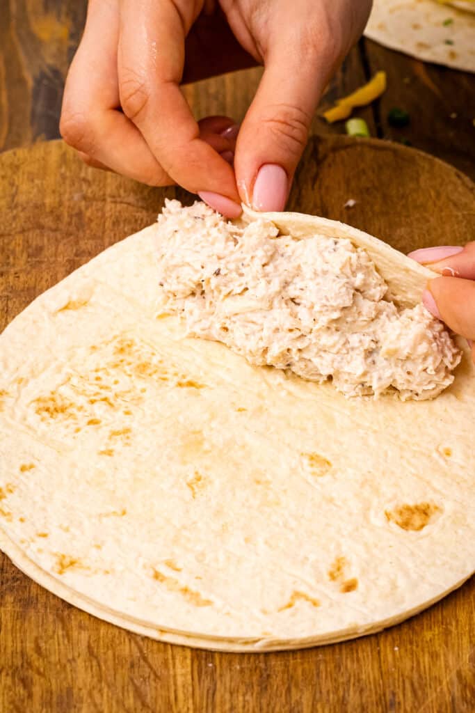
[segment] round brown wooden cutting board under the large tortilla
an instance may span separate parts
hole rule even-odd
[[[87,168],[61,142],[0,155],[0,328],[75,267],[155,220],[174,195],[191,200]],[[288,207],[349,222],[404,251],[474,239],[475,185],[395,143],[313,138]],[[4,555],[0,568],[1,712],[475,710],[474,578],[377,635],[221,654],[131,634],[46,592]]]

